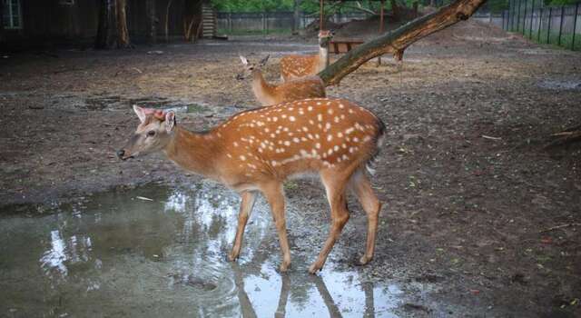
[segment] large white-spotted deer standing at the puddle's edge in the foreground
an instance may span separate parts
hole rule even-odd
[[[261,107],[233,115],[206,132],[177,124],[172,111],[133,107],[141,124],[117,152],[126,160],[162,152],[187,171],[227,185],[241,195],[238,227],[229,259],[241,250],[244,228],[258,193],[266,198],[279,234],[281,272],[291,265],[283,182],[314,174],[330,204],[330,233],[309,272],[319,271],[350,218],[352,191],[367,214],[367,244],[361,264],[373,258],[381,204],[366,166],[379,152],[385,125],[369,110],[343,99],[314,98]]]

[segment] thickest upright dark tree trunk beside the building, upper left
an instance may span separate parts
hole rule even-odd
[[[95,48],[131,47],[127,31],[126,0],[101,0]]]

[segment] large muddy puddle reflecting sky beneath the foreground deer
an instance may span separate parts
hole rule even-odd
[[[262,200],[241,259],[227,262],[238,204],[236,194],[202,183],[96,194],[52,214],[3,211],[0,315],[396,316],[399,285],[366,282],[352,266],[330,260],[313,276],[306,269],[316,253],[293,251],[291,272],[278,273]]]

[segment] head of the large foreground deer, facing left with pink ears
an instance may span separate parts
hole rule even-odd
[[[142,154],[162,151],[172,140],[175,128],[175,114],[133,105],[133,111],[141,123],[127,144],[117,151],[117,156],[126,160]]]

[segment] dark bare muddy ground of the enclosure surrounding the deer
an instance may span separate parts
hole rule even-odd
[[[277,81],[281,55],[315,49],[239,38],[10,55],[0,60],[0,202],[56,204],[153,180],[187,183],[197,177],[161,156],[115,158],[138,122],[131,104],[179,107],[180,124],[211,127],[257,106],[250,84],[234,79],[237,55],[271,54],[268,78]],[[385,202],[377,254],[361,271],[434,283],[433,301],[409,303],[409,316],[581,315],[581,147],[545,148],[551,134],[581,124],[581,54],[467,22],[412,45],[402,65],[385,60],[329,89],[388,125],[373,177]],[[294,208],[326,229],[320,185],[289,187]],[[335,249],[355,256],[365,219],[350,206],[350,239]],[[295,245],[300,237],[289,231]],[[312,234],[313,251],[325,233]]]

